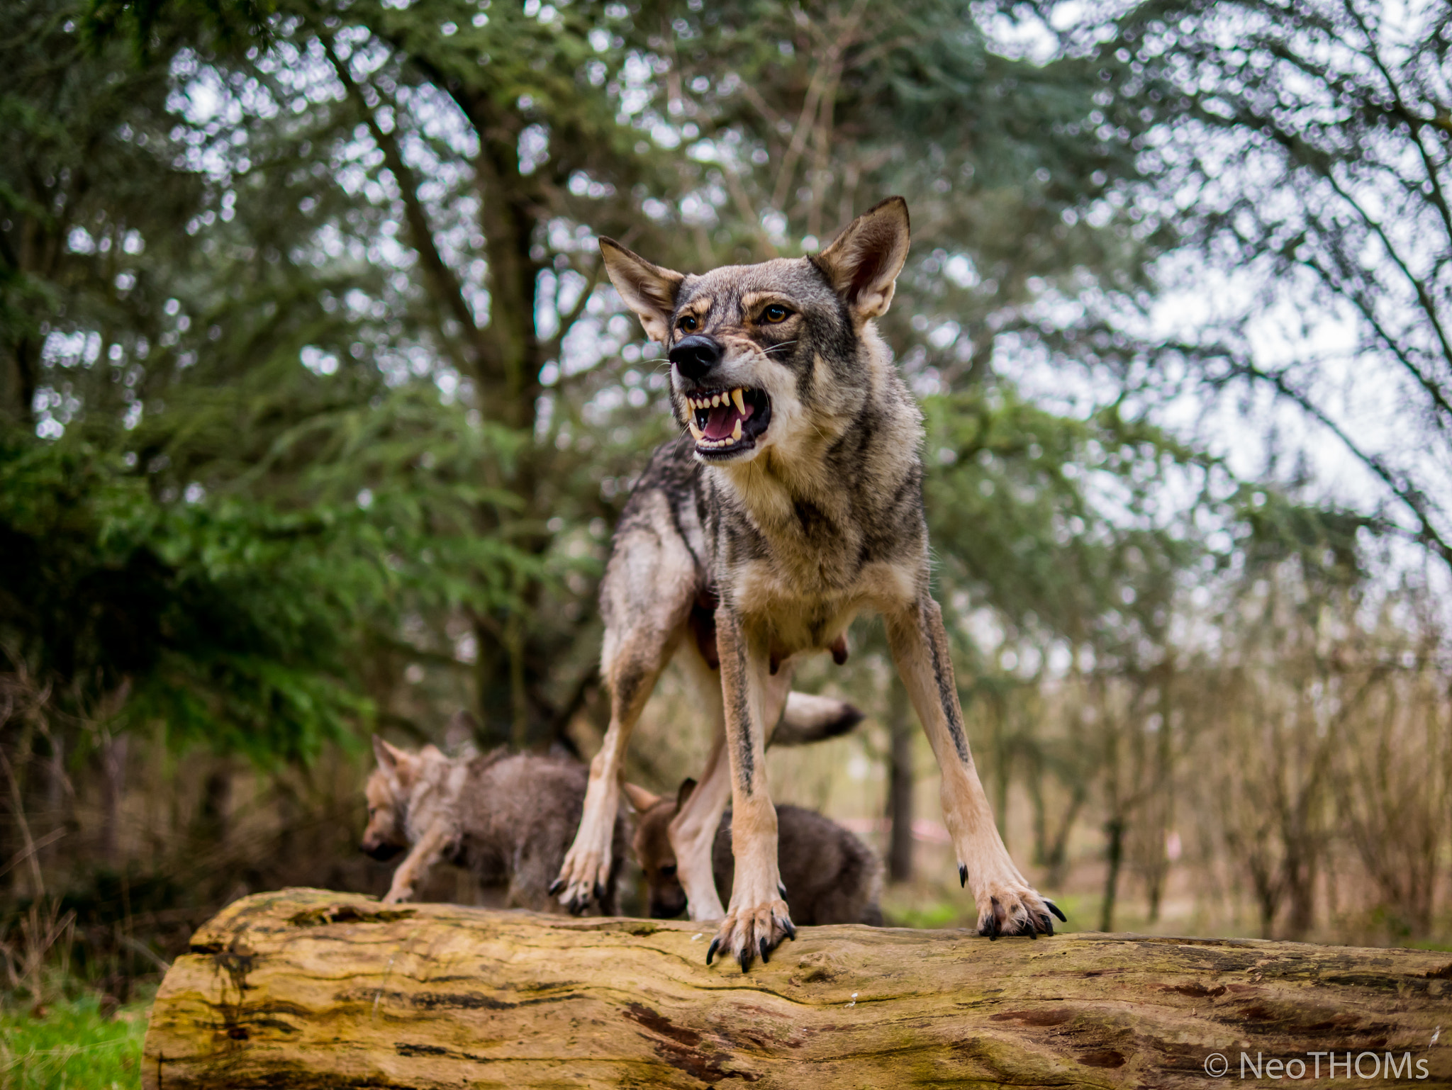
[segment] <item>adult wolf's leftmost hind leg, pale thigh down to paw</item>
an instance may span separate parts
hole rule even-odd
[[[632,523],[616,533],[600,588],[605,639],[600,672],[610,691],[610,729],[590,762],[584,813],[550,894],[582,913],[607,900],[611,837],[620,808],[626,745],[661,671],[685,631],[696,598],[696,557],[674,533],[665,498],[643,498]],[[659,509],[656,509],[659,508]]]

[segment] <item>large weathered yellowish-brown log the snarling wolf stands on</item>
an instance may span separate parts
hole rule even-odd
[[[167,972],[144,1086],[1205,1087],[1212,1054],[1240,1086],[1282,1084],[1270,1060],[1311,1086],[1452,1084],[1445,952],[833,926],[743,975],[707,968],[709,942],[688,922],[256,894]]]

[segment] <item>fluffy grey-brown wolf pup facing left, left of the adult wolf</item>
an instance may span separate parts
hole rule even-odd
[[[408,848],[385,904],[409,900],[430,868],[446,859],[472,871],[481,885],[507,884],[511,907],[563,911],[547,888],[579,824],[584,765],[504,750],[446,758],[424,746],[408,753],[376,736],[373,753],[363,851],[391,859]],[[616,913],[624,845],[621,819],[611,840],[616,864],[592,891],[607,916]]]

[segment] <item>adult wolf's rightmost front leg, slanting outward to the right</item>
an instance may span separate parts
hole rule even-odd
[[[1053,935],[1048,913],[1060,920],[1064,916],[1013,866],[973,766],[938,604],[923,594],[908,610],[887,617],[887,642],[942,771],[942,816],[958,853],[958,878],[971,887],[977,903],[979,933],[993,939]]]

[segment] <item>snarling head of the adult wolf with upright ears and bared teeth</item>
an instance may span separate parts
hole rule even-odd
[[[685,276],[600,239],[605,271],[671,358],[671,401],[696,454],[790,459],[832,441],[873,389],[877,334],[908,260],[908,203],[889,197],[820,254]]]

